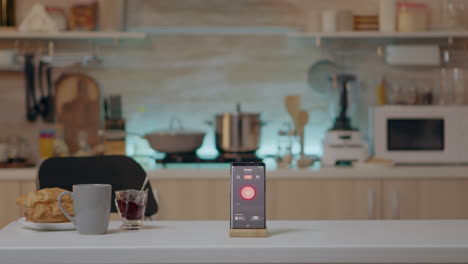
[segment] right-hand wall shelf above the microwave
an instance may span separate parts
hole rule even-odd
[[[468,31],[426,31],[426,32],[379,32],[379,31],[348,31],[348,32],[296,32],[290,37],[297,38],[323,38],[323,39],[451,39],[468,38]]]

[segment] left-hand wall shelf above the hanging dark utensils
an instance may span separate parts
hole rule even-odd
[[[81,32],[66,31],[58,33],[29,33],[18,31],[0,31],[0,40],[121,40],[145,39],[141,32]]]

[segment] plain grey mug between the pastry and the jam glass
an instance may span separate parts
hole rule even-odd
[[[75,217],[62,206],[62,197],[73,199]],[[110,184],[77,184],[73,192],[65,191],[58,197],[62,213],[76,226],[82,235],[100,235],[107,232],[111,209],[112,186]]]

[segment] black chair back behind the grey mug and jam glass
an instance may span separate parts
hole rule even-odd
[[[59,187],[72,191],[74,184],[112,185],[112,212],[115,207],[114,191],[141,188],[146,172],[132,158],[126,156],[66,157],[45,160],[39,168],[38,188]],[[148,203],[145,216],[158,212],[158,204],[153,189],[148,182]]]

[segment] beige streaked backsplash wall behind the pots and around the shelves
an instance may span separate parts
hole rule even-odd
[[[23,1],[24,2],[24,1]],[[46,2],[51,2],[46,1]],[[53,1],[52,1],[53,2]],[[307,10],[340,6],[365,13],[376,12],[373,0],[132,0],[128,1],[128,27],[156,26],[280,26],[300,30]],[[267,125],[262,130],[260,155],[276,152],[277,132],[290,122],[284,96],[298,94],[310,113],[306,127],[306,153],[320,154],[324,132],[331,126],[330,105],[335,98],[319,96],[307,83],[310,66],[324,58],[335,60],[358,77],[359,97],[353,122],[367,132],[367,110],[374,103],[382,75],[391,78],[432,79],[437,68],[395,68],[377,53],[385,44],[375,41],[331,41],[317,47],[312,39],[285,35],[151,35],[144,41],[98,42],[103,64],[79,69],[92,75],[103,95],[123,96],[128,131],[147,133],[165,129],[179,117],[186,128],[207,132],[199,150],[216,153],[212,127],[205,124],[215,114],[242,109],[260,112]],[[4,42],[0,46],[12,47]],[[59,51],[86,50],[86,42],[57,43]],[[76,71],[78,69],[66,69]],[[54,75],[58,76],[58,69]],[[0,138],[23,135],[33,148],[44,124],[25,121],[24,84],[20,73],[0,73]],[[132,137],[130,154],[152,153],[146,143]],[[136,146],[136,147],[135,147]],[[137,153],[135,153],[135,151]]]

